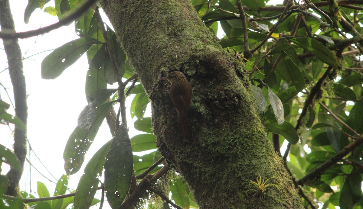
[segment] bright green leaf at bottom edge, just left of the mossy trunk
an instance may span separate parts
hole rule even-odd
[[[175,204],[182,208],[189,208],[189,189],[185,181],[181,179],[173,179],[170,182],[170,191]]]

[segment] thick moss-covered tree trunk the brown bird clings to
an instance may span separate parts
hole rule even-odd
[[[115,28],[152,103],[153,129],[163,156],[189,184],[200,208],[302,208],[291,177],[274,152],[254,109],[240,60],[221,49],[190,0],[104,0]],[[184,137],[168,95],[170,71],[193,87]],[[262,178],[263,197],[246,191]]]

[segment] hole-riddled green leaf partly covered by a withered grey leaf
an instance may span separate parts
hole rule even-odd
[[[85,154],[91,146],[99,127],[101,126],[106,114],[109,112],[113,102],[109,102],[97,107],[96,120],[91,126],[89,133],[82,131],[78,126],[69,136],[64,149],[64,170],[66,174],[75,174],[82,166]]]

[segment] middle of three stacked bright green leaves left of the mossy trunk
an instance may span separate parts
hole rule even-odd
[[[156,138],[152,134],[139,134],[131,138],[132,151],[142,152],[156,149]]]

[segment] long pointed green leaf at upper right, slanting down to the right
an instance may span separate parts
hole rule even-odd
[[[323,43],[309,37],[286,37],[289,41],[295,43],[301,48],[314,54],[315,57],[320,59],[322,62],[333,66],[334,68],[340,69],[342,65],[339,62],[338,57],[330,51]]]

